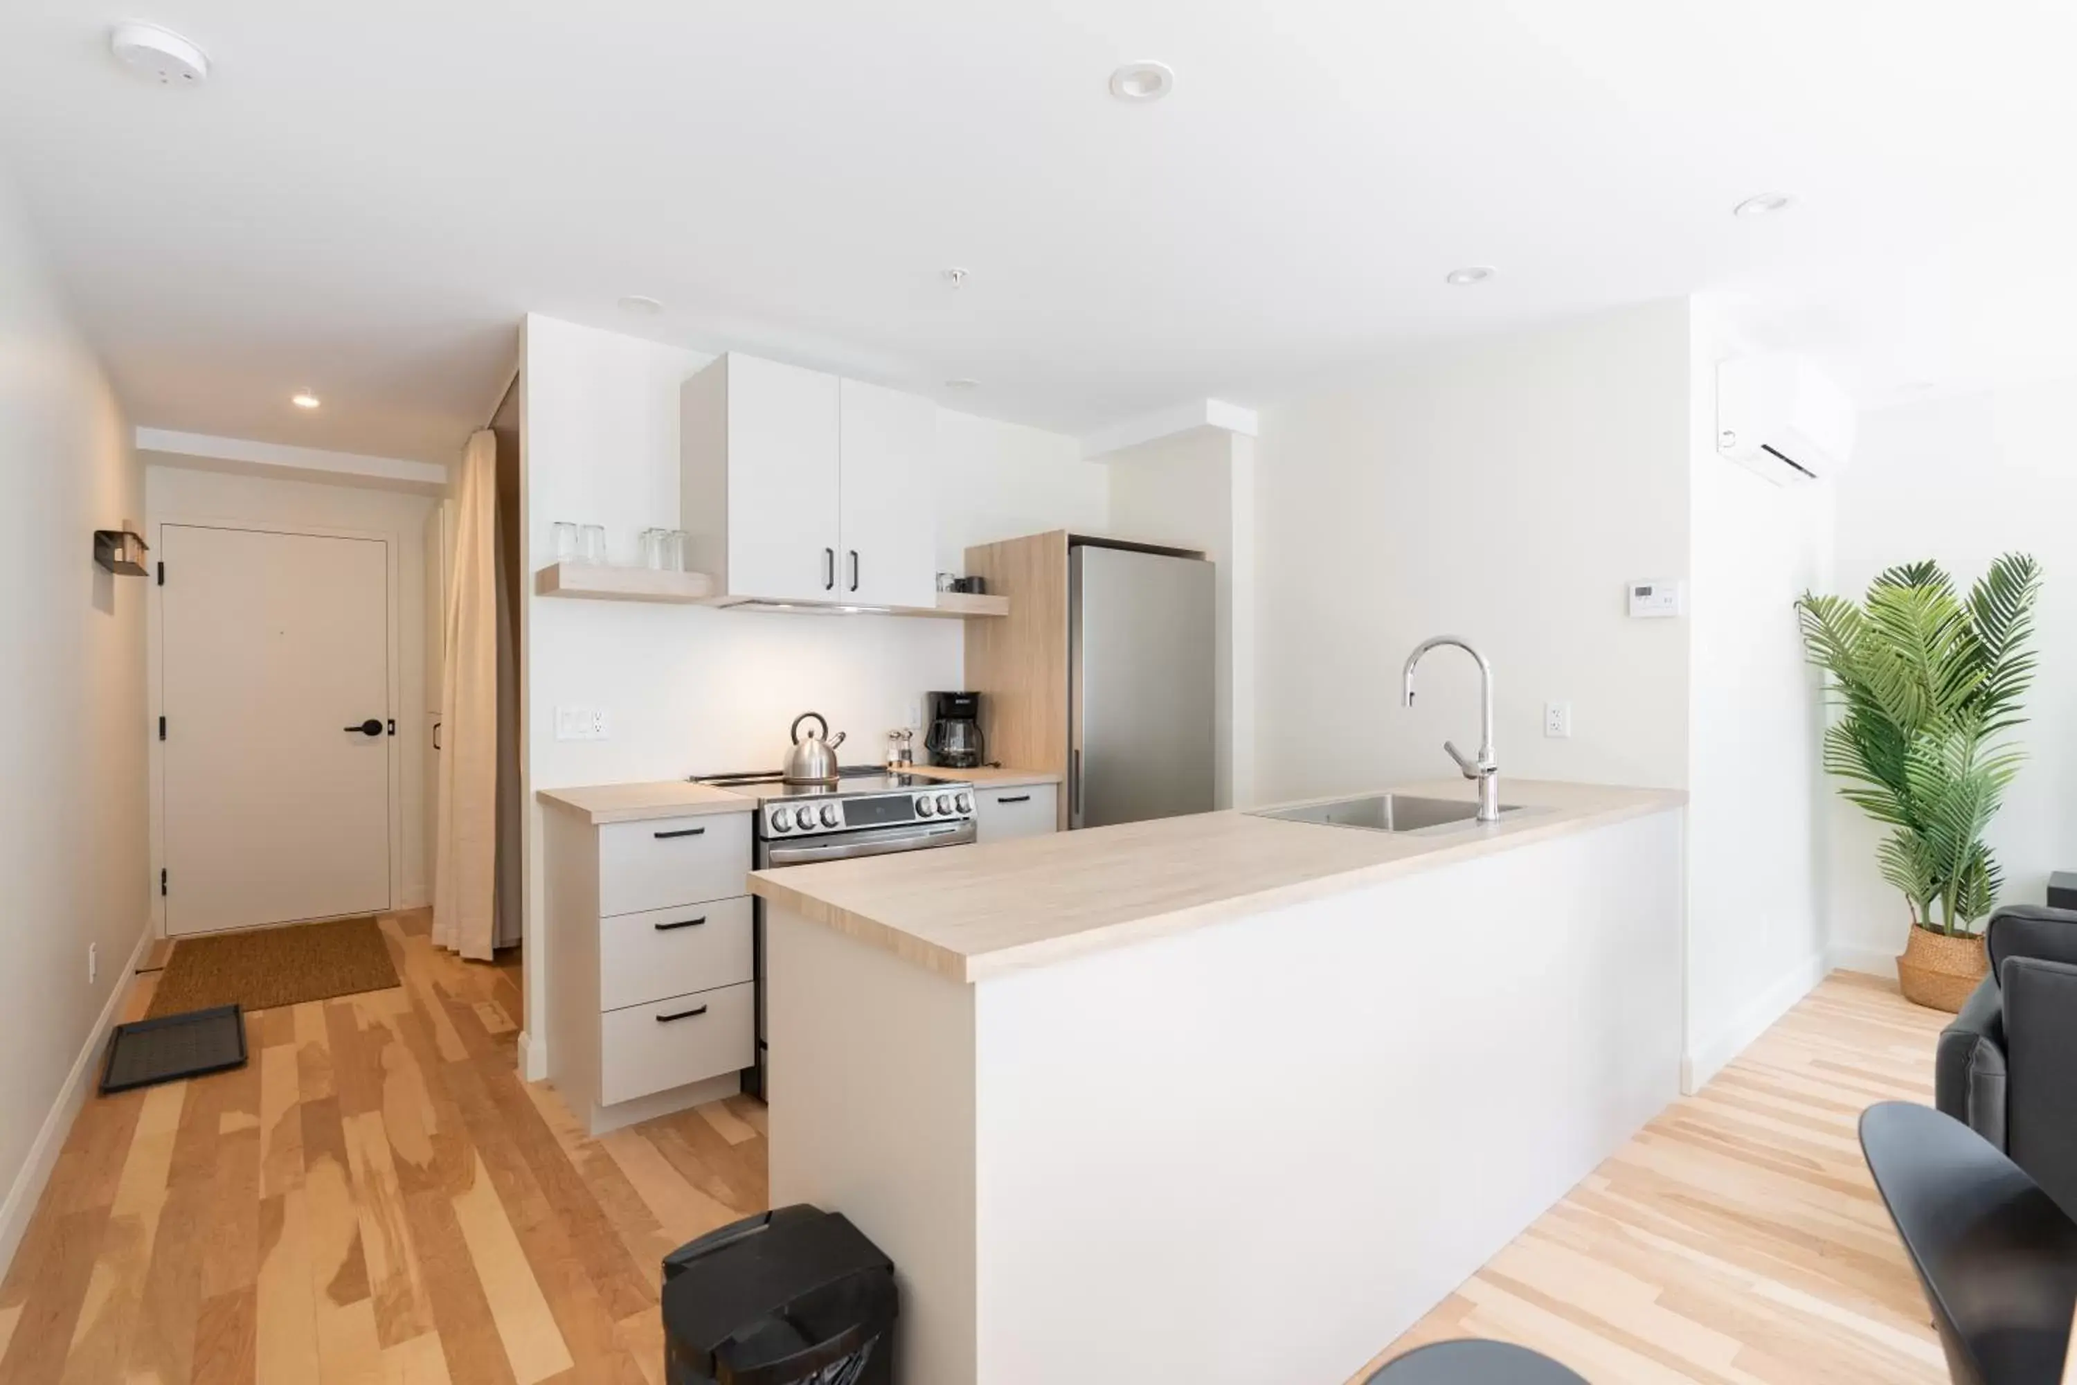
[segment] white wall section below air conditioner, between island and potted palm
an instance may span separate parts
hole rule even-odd
[[[1776,486],[1716,455],[1716,361],[1749,351],[1693,318],[1689,573],[1689,1074],[1757,1038],[1828,970],[1819,677],[1795,600],[1832,579],[1830,482]]]

